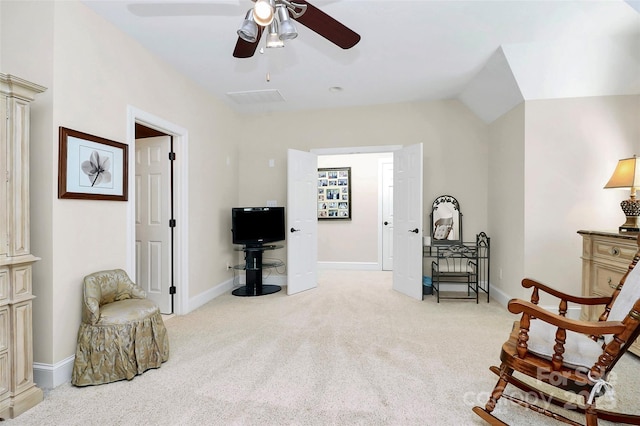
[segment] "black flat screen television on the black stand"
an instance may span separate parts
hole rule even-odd
[[[284,207],[234,207],[231,209],[233,244],[261,246],[285,239]]]

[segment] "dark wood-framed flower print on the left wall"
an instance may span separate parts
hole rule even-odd
[[[58,198],[127,201],[128,146],[59,128]]]

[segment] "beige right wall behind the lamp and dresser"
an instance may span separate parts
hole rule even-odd
[[[525,110],[524,275],[579,294],[580,229],[617,230],[628,190],[603,189],[640,148],[640,96],[530,101]]]

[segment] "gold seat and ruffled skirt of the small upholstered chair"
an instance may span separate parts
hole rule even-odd
[[[96,324],[80,324],[71,383],[131,380],[168,359],[169,339],[157,306],[147,299],[122,300],[102,306]]]

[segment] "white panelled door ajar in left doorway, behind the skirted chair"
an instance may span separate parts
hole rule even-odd
[[[136,139],[136,284],[171,313],[170,137]]]

